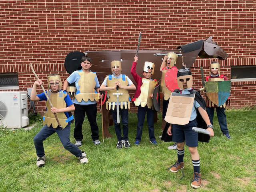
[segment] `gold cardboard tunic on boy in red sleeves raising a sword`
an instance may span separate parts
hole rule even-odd
[[[148,106],[148,108],[151,108],[153,105],[153,100],[150,98],[150,95],[153,94],[154,88],[156,87],[157,81],[156,80],[150,80],[146,78],[142,78],[142,86],[140,87],[140,96],[136,98],[134,101],[134,104],[136,106]]]

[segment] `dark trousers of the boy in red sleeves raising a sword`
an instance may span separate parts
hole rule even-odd
[[[148,134],[150,141],[155,141],[154,135],[154,111],[146,105],[145,107],[138,106],[138,125],[137,125],[137,134],[136,134],[136,141],[141,141],[142,135],[142,127],[144,124],[145,116],[147,113],[147,122],[148,122]]]

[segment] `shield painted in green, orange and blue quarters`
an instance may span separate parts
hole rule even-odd
[[[230,96],[231,81],[206,81],[207,97],[217,106],[223,105]]]

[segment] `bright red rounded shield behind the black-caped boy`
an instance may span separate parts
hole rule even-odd
[[[169,69],[164,77],[166,87],[173,92],[174,89],[178,89],[178,83],[177,83],[177,73],[178,73],[178,68],[173,67]]]

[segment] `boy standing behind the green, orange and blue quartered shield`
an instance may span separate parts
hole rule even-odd
[[[210,69],[211,69],[210,76],[206,77],[206,81],[228,80],[228,78],[225,75],[219,74],[220,72],[219,62],[216,62],[216,61],[211,62]],[[223,135],[226,136],[226,138],[231,139],[228,133],[228,125],[227,125],[226,114],[225,114],[225,106],[227,104],[227,101],[221,106],[216,106],[213,102],[211,102],[208,98],[206,98],[206,111],[212,124],[214,109],[216,109],[220,129]]]

